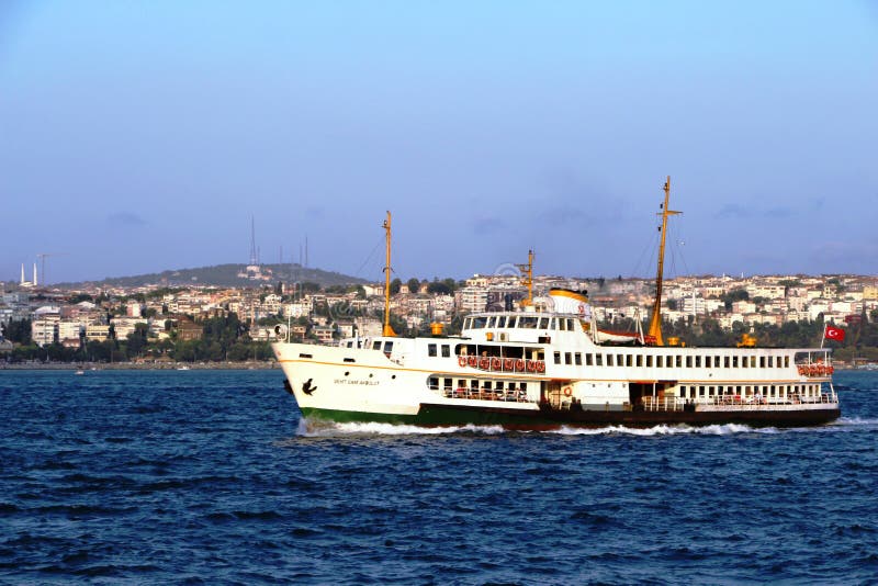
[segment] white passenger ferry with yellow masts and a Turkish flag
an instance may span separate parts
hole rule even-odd
[[[665,345],[662,264],[669,181],[662,207],[656,297],[648,334],[601,331],[585,292],[554,289],[518,311],[475,313],[459,336],[402,338],[390,326],[391,215],[382,336],[338,346],[272,345],[285,387],[307,420],[507,429],[744,424],[798,427],[840,415],[828,348]],[[285,336],[285,328],[278,326]],[[674,342],[675,340],[668,340]]]

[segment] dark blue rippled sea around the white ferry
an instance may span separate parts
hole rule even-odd
[[[0,582],[878,582],[878,374],[843,418],[308,428],[274,371],[0,371]]]

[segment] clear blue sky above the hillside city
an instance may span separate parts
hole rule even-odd
[[[0,280],[878,274],[878,2],[0,2]]]

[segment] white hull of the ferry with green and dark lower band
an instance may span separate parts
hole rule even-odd
[[[379,421],[417,426],[503,426],[508,429],[553,429],[570,427],[653,427],[656,425],[719,425],[800,427],[830,422],[840,416],[834,395],[810,399],[780,397],[728,401],[645,401],[633,404],[620,398],[589,399],[587,387],[597,386],[594,373],[582,379],[559,372],[492,373],[450,360],[421,363],[392,360],[382,351],[359,348],[275,343],[286,388],[295,396],[307,419],[335,422]],[[404,365],[412,364],[412,365]],[[416,365],[417,368],[413,368]],[[544,367],[543,367],[544,368]],[[793,367],[795,371],[795,367]],[[680,373],[677,373],[680,374]],[[637,379],[620,382],[614,375],[607,386],[628,387]],[[712,376],[712,373],[711,373]],[[458,390],[430,388],[427,381],[514,380],[527,383],[527,395],[506,396],[492,392],[458,395]],[[716,381],[711,381],[716,382]],[[734,382],[734,381],[731,381]],[[739,381],[740,382],[740,381]],[[554,398],[547,387],[564,384]],[[603,383],[601,383],[603,384]],[[513,385],[509,385],[513,386]],[[560,388],[560,387],[559,387]],[[570,392],[566,397],[564,393]],[[567,401],[567,398],[572,401]]]

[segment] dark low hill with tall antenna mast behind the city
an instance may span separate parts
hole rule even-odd
[[[260,286],[273,285],[280,281],[312,282],[320,286],[346,285],[367,283],[364,279],[349,277],[338,272],[323,271],[320,269],[304,268],[299,264],[262,264],[260,266],[261,279],[247,279],[239,277],[247,269],[245,264],[217,264],[215,267],[201,267],[196,269],[177,269],[159,273],[138,274],[134,277],[111,277],[102,281],[88,281],[85,283],[59,283],[55,286],[77,288],[82,285],[106,286],[143,286],[160,284],[165,286],[182,285],[216,285],[216,286]]]

